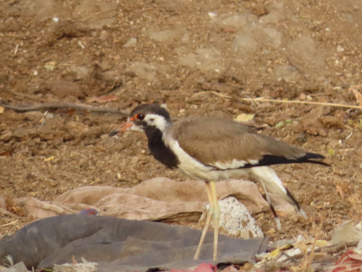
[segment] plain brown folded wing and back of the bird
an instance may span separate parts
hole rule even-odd
[[[186,153],[208,165],[216,161],[230,162],[233,159],[261,161],[266,155],[297,160],[307,154],[299,148],[258,134],[247,125],[226,118],[185,119],[175,122],[171,133]],[[276,163],[268,162],[264,165]]]

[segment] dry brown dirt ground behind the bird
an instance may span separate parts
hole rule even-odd
[[[244,112],[255,114],[262,133],[324,154],[332,167],[275,167],[308,219],[283,217],[278,232],[270,213],[257,215],[272,240],[315,222],[328,238],[338,223],[362,219],[361,110],[243,100],[358,105],[360,0],[0,0],[0,43],[0,103],[131,110],[156,102],[175,119]],[[95,101],[104,95],[113,101]],[[0,193],[9,210],[21,214],[15,197],[51,200],[85,185],[186,178],[153,159],[143,134],[109,138],[123,120],[70,108],[5,108]],[[0,237],[34,218],[14,220],[0,218]]]

